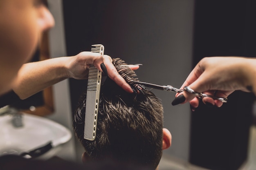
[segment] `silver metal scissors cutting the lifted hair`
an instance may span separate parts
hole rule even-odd
[[[135,84],[139,84],[141,85],[141,88],[145,88],[149,87],[149,88],[155,88],[158,90],[162,90],[162,91],[169,91],[169,92],[175,92],[175,93],[180,93],[182,91],[186,91],[189,92],[191,94],[194,94],[196,97],[202,99],[203,97],[211,97],[213,100],[220,100],[223,103],[227,103],[227,98],[226,97],[216,97],[213,95],[207,95],[204,93],[199,93],[194,91],[192,88],[190,88],[189,86],[185,86],[184,89],[178,89],[178,88],[174,88],[173,86],[167,85],[167,86],[160,86],[157,84],[151,84],[151,83],[146,83],[146,82],[139,82],[139,81],[132,81]]]

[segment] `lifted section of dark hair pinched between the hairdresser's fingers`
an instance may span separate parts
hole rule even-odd
[[[113,59],[113,64],[116,67],[118,73],[126,80],[126,82],[133,88],[135,92],[142,92],[141,88],[139,88],[140,86],[135,83],[136,81],[139,81],[136,73],[132,69],[130,69],[130,67],[124,62],[124,60],[121,60],[120,58],[115,58]]]

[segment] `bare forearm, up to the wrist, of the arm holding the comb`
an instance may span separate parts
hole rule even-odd
[[[65,63],[70,57],[58,57],[24,64],[18,72],[13,91],[25,99],[48,86],[68,78]]]

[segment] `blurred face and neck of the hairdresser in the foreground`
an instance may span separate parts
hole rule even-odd
[[[0,0],[0,95],[34,54],[40,36],[54,26],[45,0]],[[2,80],[5,81],[2,81]]]

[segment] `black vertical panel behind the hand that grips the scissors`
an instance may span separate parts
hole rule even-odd
[[[256,56],[256,1],[195,0],[193,66],[207,56]],[[191,114],[190,162],[236,170],[247,158],[254,95],[237,91],[221,108]]]

